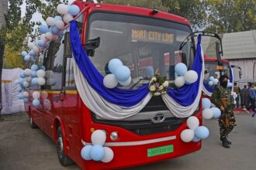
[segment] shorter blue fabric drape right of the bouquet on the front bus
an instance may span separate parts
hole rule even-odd
[[[192,65],[192,70],[198,74],[198,80],[192,84],[185,84],[185,86],[178,90],[168,88],[168,95],[173,98],[178,104],[182,106],[191,105],[197,94],[199,93],[200,78],[202,72],[202,52],[201,52],[201,35],[198,36],[198,43],[196,45],[195,60]]]

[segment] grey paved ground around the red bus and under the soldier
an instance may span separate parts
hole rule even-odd
[[[237,127],[230,134],[234,143],[230,149],[220,146],[219,128],[216,120],[204,121],[210,136],[203,141],[200,151],[135,169],[175,170],[253,170],[256,169],[256,117],[237,114]],[[77,165],[62,167],[56,154],[54,142],[39,129],[30,129],[26,114],[12,114],[0,121],[0,169],[55,170],[79,169]]]

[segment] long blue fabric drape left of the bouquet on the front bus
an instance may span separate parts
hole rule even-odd
[[[90,86],[105,100],[123,107],[132,107],[143,100],[149,93],[148,84],[137,90],[121,90],[119,88],[108,89],[103,84],[103,76],[95,68],[92,61],[81,45],[78,26],[75,21],[70,25],[71,49],[81,73],[85,76]]]

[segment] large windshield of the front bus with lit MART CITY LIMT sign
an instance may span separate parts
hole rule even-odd
[[[156,71],[168,80],[174,80],[175,64],[184,62],[189,66],[193,56],[192,41],[178,50],[191,29],[176,22],[94,12],[89,18],[88,27],[87,40],[100,37],[100,46],[90,59],[102,76],[109,73],[109,60],[118,58],[130,68],[133,82],[148,82]]]

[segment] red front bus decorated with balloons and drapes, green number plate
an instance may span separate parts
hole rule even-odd
[[[132,79],[145,77],[144,68],[158,68],[168,80],[175,79],[175,63],[182,61],[191,67],[195,42],[190,40],[177,59],[175,52],[185,37],[192,33],[187,19],[148,8],[123,5],[106,5],[76,1],[80,8],[78,22],[81,43],[89,58],[102,76],[105,76],[109,59],[119,58],[129,66]],[[41,91],[40,106],[26,104],[32,128],[39,127],[57,145],[61,165],[76,163],[82,169],[113,169],[144,165],[164,159],[176,158],[198,151],[202,141],[185,143],[181,132],[187,128],[186,118],[175,117],[161,97],[152,97],[140,113],[123,120],[102,118],[89,110],[81,100],[74,81],[68,29],[65,36],[50,42],[40,53],[37,64],[46,67],[47,83],[31,87]],[[148,36],[145,36],[147,34]],[[100,38],[100,46],[97,38]],[[91,46],[91,47],[90,47]],[[147,73],[146,73],[147,74]],[[132,87],[138,88],[139,80]],[[202,124],[202,108],[194,114]],[[85,161],[81,149],[92,143],[95,130],[106,131],[106,145],[112,148],[112,162]],[[148,155],[151,148],[171,146],[171,151]]]

